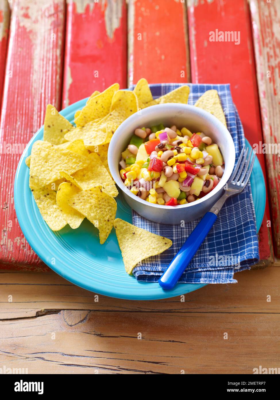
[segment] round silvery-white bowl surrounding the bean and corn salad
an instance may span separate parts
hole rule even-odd
[[[218,185],[200,200],[179,206],[160,206],[152,204],[132,194],[123,184],[119,176],[119,161],[121,152],[127,148],[136,128],[147,128],[163,124],[164,126],[184,126],[191,132],[203,132],[218,144],[224,158],[224,174]],[[111,174],[117,186],[123,192],[125,200],[133,210],[148,220],[164,223],[179,224],[189,222],[203,216],[218,200],[223,192],[223,186],[230,177],[235,161],[235,149],[232,137],[224,125],[212,114],[195,106],[169,103],[158,104],[144,108],[125,120],[113,134],[108,150],[108,162]]]

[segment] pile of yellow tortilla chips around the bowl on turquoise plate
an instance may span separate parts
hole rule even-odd
[[[195,105],[222,119],[218,94],[209,92]],[[26,158],[29,186],[48,226],[54,231],[67,224],[76,229],[87,218],[99,230],[103,244],[114,225],[128,273],[139,261],[169,248],[171,240],[115,220],[114,197],[118,191],[109,171],[107,152],[115,130],[126,118],[155,104],[187,104],[188,97],[189,86],[180,86],[154,100],[143,78],[132,92],[119,90],[115,83],[101,93],[93,92],[84,108],[75,113],[75,126],[49,104],[44,138],[33,144]],[[145,251],[141,250],[142,244]]]

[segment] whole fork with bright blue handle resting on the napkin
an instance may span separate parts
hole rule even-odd
[[[180,276],[189,265],[191,259],[201,246],[202,242],[205,240],[209,230],[214,225],[218,213],[226,199],[234,196],[235,194],[241,193],[248,183],[256,157],[256,152],[254,152],[251,161],[252,151],[253,150],[251,149],[250,155],[247,159],[248,148],[246,151],[245,146],[242,148],[236,167],[234,168],[228,182],[224,186],[224,194],[197,224],[179,252],[171,261],[171,264],[167,270],[162,274],[161,278],[159,278],[159,284],[162,288],[172,289],[175,286]]]

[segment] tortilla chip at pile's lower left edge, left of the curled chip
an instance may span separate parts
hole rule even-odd
[[[56,192],[41,188],[32,190],[32,193],[42,217],[51,230],[56,231],[64,228],[67,222],[56,204]]]

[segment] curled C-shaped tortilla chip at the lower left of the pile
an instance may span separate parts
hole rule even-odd
[[[79,228],[79,226],[83,222],[83,219],[85,218],[77,210],[68,205],[68,200],[79,191],[80,190],[79,188],[77,188],[77,186],[69,182],[63,182],[62,184],[60,184],[56,193],[56,203],[60,208],[62,216],[72,229]]]

